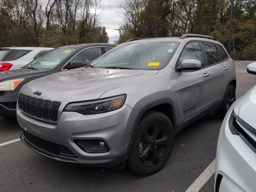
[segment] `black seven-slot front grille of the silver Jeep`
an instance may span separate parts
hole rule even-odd
[[[56,121],[58,118],[59,101],[44,100],[20,93],[18,106],[23,112],[38,118]]]

